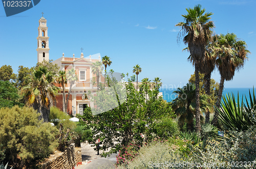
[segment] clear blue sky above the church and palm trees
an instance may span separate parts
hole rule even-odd
[[[100,53],[108,55],[115,72],[132,75],[139,64],[139,80],[160,77],[168,87],[185,85],[194,67],[187,61],[189,53],[182,51],[183,42],[177,43],[185,8],[201,4],[214,13],[216,34],[234,33],[244,40],[251,54],[243,69],[226,88],[251,88],[256,85],[256,12],[255,1],[50,1],[41,0],[23,13],[6,17],[0,5],[0,66],[11,65],[14,73],[18,66],[35,66],[37,62],[37,27],[41,12],[47,19],[50,59],[84,57]],[[220,80],[218,70],[212,78]]]

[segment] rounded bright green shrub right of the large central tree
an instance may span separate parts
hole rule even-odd
[[[164,117],[153,123],[153,132],[161,138],[168,138],[179,133],[178,123],[172,118]]]

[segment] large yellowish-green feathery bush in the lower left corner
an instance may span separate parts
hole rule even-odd
[[[6,148],[6,160],[19,167],[49,156],[57,146],[57,129],[39,121],[33,108],[2,108],[0,119],[0,143]]]

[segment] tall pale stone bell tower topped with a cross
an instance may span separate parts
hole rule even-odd
[[[44,18],[44,13],[42,12],[42,17],[39,19],[38,26],[38,37],[37,39],[37,62],[49,61],[49,37],[48,37],[48,27],[47,20]]]

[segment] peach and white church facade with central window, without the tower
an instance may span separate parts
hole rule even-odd
[[[63,53],[61,58],[53,61],[53,64],[57,64],[60,67],[60,70],[65,71],[66,74],[70,69],[74,68],[78,78],[78,80],[74,82],[74,85],[71,86],[71,83],[68,81],[65,86],[66,100],[71,88],[67,108],[67,112],[70,115],[76,116],[76,114],[83,114],[84,108],[94,106],[87,98],[89,91],[94,94],[97,90],[96,75],[92,73],[92,64],[94,62],[101,62],[99,53],[92,56],[90,55],[87,58],[83,57],[83,53],[81,53],[80,58],[75,58],[74,54],[73,57],[65,57]],[[104,77],[102,75],[99,78],[99,82],[104,82]],[[60,91],[56,96],[57,107],[62,110],[64,105],[63,91],[60,85],[58,85],[58,87],[60,88]]]

